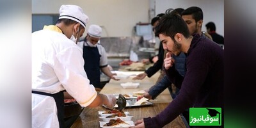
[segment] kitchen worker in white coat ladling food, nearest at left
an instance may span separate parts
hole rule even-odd
[[[84,71],[76,42],[87,22],[79,6],[61,5],[55,26],[32,33],[32,127],[65,127],[64,91],[82,107],[115,106],[116,98],[97,93]]]

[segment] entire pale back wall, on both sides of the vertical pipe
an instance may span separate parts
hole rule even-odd
[[[168,8],[198,6],[204,12],[202,30],[213,21],[216,32],[224,36],[224,0],[155,0],[156,14]],[[152,0],[32,0],[33,14],[58,14],[61,4],[77,4],[90,17],[89,24],[103,26],[102,36],[131,36],[138,22],[150,22],[148,10]],[[154,3],[154,1],[153,1]],[[88,26],[86,26],[88,29]]]

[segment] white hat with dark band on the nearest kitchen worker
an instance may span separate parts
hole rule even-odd
[[[89,17],[85,15],[82,8],[77,5],[61,5],[59,19],[74,20],[85,28]]]

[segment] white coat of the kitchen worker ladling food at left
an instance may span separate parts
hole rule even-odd
[[[57,26],[32,33],[32,90],[66,90],[83,107],[97,96],[84,71],[83,51]],[[32,127],[59,127],[53,97],[32,93]]]

